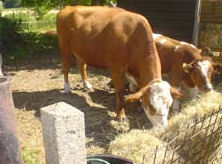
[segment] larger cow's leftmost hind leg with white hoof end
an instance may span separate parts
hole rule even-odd
[[[68,79],[71,54],[68,50],[61,50],[61,56],[62,56],[62,71],[64,74],[64,90],[65,93],[71,93],[69,79]]]

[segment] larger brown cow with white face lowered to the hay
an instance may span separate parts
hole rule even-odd
[[[65,91],[70,92],[68,73],[73,54],[84,83],[86,64],[108,68],[116,90],[117,118],[124,118],[124,76],[129,70],[138,78],[139,91],[126,101],[142,99],[154,125],[166,125],[171,93],[181,93],[162,81],[161,65],[148,21],[120,8],[67,6],[58,13],[57,32],[62,56]]]

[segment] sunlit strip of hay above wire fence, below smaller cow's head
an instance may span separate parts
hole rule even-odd
[[[193,100],[182,107],[182,112],[172,116],[169,125],[158,132],[158,138],[175,138],[177,132],[186,131],[188,125],[195,120],[201,119],[204,115],[210,114],[213,110],[222,106],[222,94],[211,91],[202,97]]]

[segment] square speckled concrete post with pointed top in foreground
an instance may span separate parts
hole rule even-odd
[[[41,109],[47,164],[86,164],[84,114],[64,102]]]

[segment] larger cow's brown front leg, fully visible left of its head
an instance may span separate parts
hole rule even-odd
[[[125,110],[124,110],[124,73],[121,70],[112,69],[111,76],[113,79],[113,85],[116,91],[116,117],[117,118],[125,118]]]

